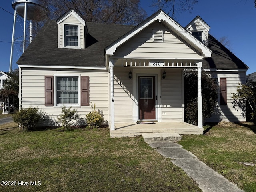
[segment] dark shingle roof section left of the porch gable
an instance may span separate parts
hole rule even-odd
[[[134,26],[86,23],[89,36],[85,49],[58,48],[58,25],[45,24],[31,42],[18,64],[56,66],[105,66],[105,48]]]

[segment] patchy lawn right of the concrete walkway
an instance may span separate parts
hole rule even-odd
[[[186,135],[178,142],[208,166],[234,182],[246,192],[256,192],[256,126],[250,123],[236,127],[206,126],[204,135]]]

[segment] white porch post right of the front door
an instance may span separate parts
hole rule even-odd
[[[198,128],[203,128],[203,98],[202,98],[202,61],[197,63],[198,66],[198,98],[197,98],[197,122]]]

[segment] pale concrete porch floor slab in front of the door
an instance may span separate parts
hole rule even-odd
[[[110,137],[140,136],[143,133],[203,134],[204,129],[185,122],[115,123]]]

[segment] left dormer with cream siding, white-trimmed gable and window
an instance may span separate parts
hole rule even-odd
[[[84,49],[88,34],[85,21],[70,9],[60,18],[58,24],[58,48]]]

